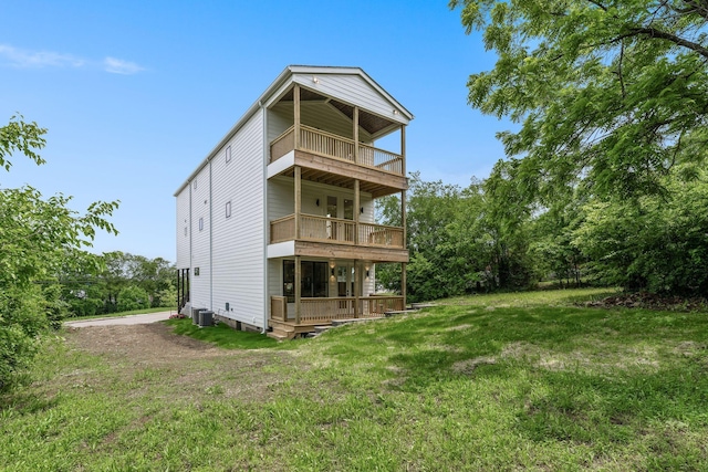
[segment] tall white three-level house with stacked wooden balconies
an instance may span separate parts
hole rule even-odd
[[[180,308],[278,338],[403,310],[410,119],[358,67],[287,67],[175,193]],[[375,224],[395,193],[403,228]],[[383,262],[399,294],[375,294]]]

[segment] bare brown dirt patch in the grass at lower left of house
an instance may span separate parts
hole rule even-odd
[[[170,399],[175,392],[190,401],[214,394],[264,400],[293,370],[306,368],[288,352],[227,350],[175,335],[163,323],[67,328],[66,338],[76,349],[102,357],[119,381],[147,380],[149,395]]]

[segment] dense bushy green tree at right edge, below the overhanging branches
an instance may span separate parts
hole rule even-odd
[[[593,275],[631,290],[708,294],[708,172],[664,182],[673,198],[591,201],[572,244],[592,262]]]

